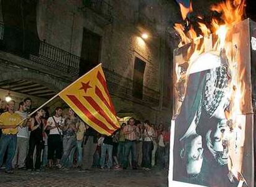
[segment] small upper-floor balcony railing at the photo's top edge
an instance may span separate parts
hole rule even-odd
[[[113,6],[104,0],[83,0],[82,10],[85,10],[85,7],[93,10],[96,14],[101,15],[109,23],[113,22]]]

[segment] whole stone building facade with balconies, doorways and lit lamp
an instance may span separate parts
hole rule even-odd
[[[0,17],[0,88],[43,103],[102,63],[117,116],[169,124],[176,2],[13,0]]]

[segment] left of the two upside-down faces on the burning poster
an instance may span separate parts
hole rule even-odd
[[[185,142],[186,170],[188,175],[201,172],[203,164],[202,136],[196,135]]]

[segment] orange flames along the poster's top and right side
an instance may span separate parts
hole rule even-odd
[[[179,3],[179,6],[181,7],[182,18],[186,21],[186,25],[176,23],[174,26],[177,33],[181,37],[179,47],[189,44],[190,42],[194,42],[195,44],[194,47],[189,47],[187,52],[187,54],[189,54],[189,60],[187,60],[189,63],[189,68],[187,68],[187,70],[190,70],[190,66],[195,59],[205,52],[205,46],[209,46],[206,36],[210,36],[211,33],[217,36],[217,40],[211,47],[211,51],[217,52],[221,55],[221,52],[223,52],[224,49],[227,58],[226,63],[231,70],[231,81],[229,82],[229,98],[231,99],[231,104],[226,117],[228,120],[231,120],[234,122],[234,124],[236,124],[234,125],[234,129],[237,130],[236,133],[241,133],[242,136],[242,130],[244,130],[245,126],[245,118],[242,115],[242,106],[245,105],[244,71],[242,70],[238,72],[239,58],[237,55],[239,52],[237,52],[237,49],[233,48],[234,46],[232,46],[232,42],[228,42],[227,38],[231,38],[231,33],[229,30],[233,27],[233,25],[241,22],[244,18],[245,0],[226,0],[211,6],[210,9],[212,11],[216,11],[221,14],[221,20],[212,18],[210,23],[211,26],[209,28],[207,25],[202,23],[202,17],[197,17],[200,20],[200,22],[197,23],[197,26],[201,33],[195,32],[193,26],[189,23],[189,18],[187,17],[188,14],[193,11],[192,4],[190,4],[190,7],[188,8],[183,6],[181,3]],[[202,39],[203,44],[201,45],[199,45],[199,42],[197,42],[198,36],[200,35],[205,37]],[[229,161],[228,169],[234,173],[237,179],[239,179],[239,173],[241,173],[242,170],[243,138],[241,139],[242,140],[240,140],[239,143],[237,143],[236,140],[232,141],[233,144],[241,147],[237,148],[238,154],[237,150],[234,151],[232,148],[229,152],[231,161]]]

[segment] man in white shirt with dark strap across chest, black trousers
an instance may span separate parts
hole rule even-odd
[[[54,159],[54,153],[56,152],[56,159],[57,163],[59,164],[59,161],[62,156],[62,124],[64,122],[64,119],[61,116],[62,114],[62,108],[57,107],[55,109],[54,116],[51,116],[48,118],[48,121],[46,123],[46,129],[49,130],[49,136],[48,136],[48,159],[49,159],[49,167],[53,167],[53,159]]]

